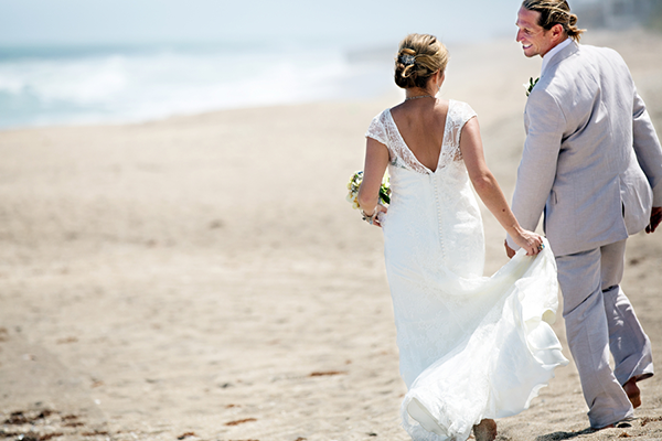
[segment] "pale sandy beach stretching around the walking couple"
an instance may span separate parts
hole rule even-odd
[[[662,135],[662,35],[584,42],[623,55]],[[478,112],[510,198],[541,60],[450,50],[441,95]],[[402,97],[0,131],[0,439],[409,439],[382,234],[345,202]],[[662,232],[633,236],[622,283],[659,368],[661,259]],[[662,440],[660,375],[629,427],[592,432],[574,365],[556,373],[499,440]]]

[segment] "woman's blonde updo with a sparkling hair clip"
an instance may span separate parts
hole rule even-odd
[[[409,34],[395,57],[395,84],[403,89],[425,88],[435,72],[446,71],[448,51],[435,35]]]

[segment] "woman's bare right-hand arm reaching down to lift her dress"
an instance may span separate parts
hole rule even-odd
[[[527,256],[538,254],[538,247],[543,244],[543,239],[540,235],[527,232],[520,226],[496,179],[488,168],[478,118],[471,118],[462,128],[460,151],[473,189],[476,189],[476,193],[478,193],[488,209],[496,217],[496,220],[511,235],[513,240],[526,250]]]

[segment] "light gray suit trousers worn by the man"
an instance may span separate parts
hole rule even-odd
[[[624,254],[622,240],[556,257],[568,346],[590,426],[596,429],[632,417],[632,405],[621,386],[632,377],[640,380],[653,375],[651,343],[619,287]]]

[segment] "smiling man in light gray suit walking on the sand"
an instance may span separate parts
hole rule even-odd
[[[525,0],[517,14],[517,42],[543,67],[524,112],[513,212],[532,230],[545,213],[568,346],[600,429],[633,416],[637,381],[653,375],[650,341],[619,283],[628,236],[662,219],[662,149],[623,60],[578,44],[576,22],[565,0]],[[509,256],[514,248],[509,237]]]

